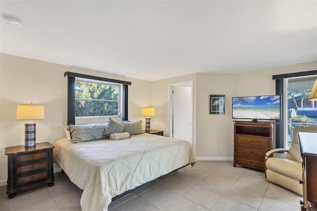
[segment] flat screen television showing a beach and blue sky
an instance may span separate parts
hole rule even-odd
[[[281,119],[281,96],[252,96],[232,98],[232,118],[263,120]]]

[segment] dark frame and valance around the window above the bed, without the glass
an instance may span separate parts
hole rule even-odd
[[[128,120],[128,86],[131,82],[121,81],[92,75],[85,75],[74,72],[65,72],[64,77],[67,76],[67,125],[75,124],[75,80],[80,78],[83,80],[94,80],[100,82],[108,82],[114,84],[122,84],[122,120]],[[86,118],[86,117],[85,117]],[[99,116],[96,118],[99,118]],[[84,119],[84,118],[80,118]]]

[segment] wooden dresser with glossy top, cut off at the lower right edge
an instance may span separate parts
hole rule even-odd
[[[299,132],[299,145],[303,158],[302,211],[317,211],[317,133]]]

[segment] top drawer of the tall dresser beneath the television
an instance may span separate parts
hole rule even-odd
[[[249,145],[253,147],[270,148],[269,139],[259,136],[236,135],[236,144]]]

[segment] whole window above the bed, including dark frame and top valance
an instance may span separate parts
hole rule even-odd
[[[67,76],[67,125],[77,118],[122,116],[128,120],[128,86],[131,82],[65,72]]]

